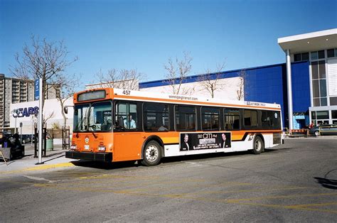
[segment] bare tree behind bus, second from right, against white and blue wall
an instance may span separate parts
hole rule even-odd
[[[199,85],[210,93],[210,97],[214,97],[216,91],[223,89],[224,84],[220,83],[219,80],[222,79],[222,71],[225,67],[225,62],[218,64],[216,66],[216,71],[211,72],[209,69],[205,74],[198,77]]]

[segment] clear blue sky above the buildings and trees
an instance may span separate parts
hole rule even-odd
[[[80,1],[0,0],[0,73],[31,36],[63,40],[66,72],[81,86],[110,69],[137,69],[144,81],[166,77],[169,58],[189,52],[191,75],[285,62],[277,38],[337,28],[337,0]]]

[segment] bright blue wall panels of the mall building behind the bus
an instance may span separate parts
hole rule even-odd
[[[287,127],[288,100],[287,100],[287,70],[286,64],[267,65],[262,67],[250,67],[242,69],[245,71],[245,101],[267,102],[281,104],[283,126]],[[230,70],[211,74],[213,78],[239,77],[242,70]],[[309,62],[294,62],[291,65],[293,72],[293,102],[294,112],[309,117],[310,86],[309,86]],[[194,75],[184,80],[184,84],[198,82],[200,75]],[[176,80],[178,83],[178,80]],[[169,85],[166,80],[156,80],[139,83],[139,89],[149,87],[161,87]],[[306,120],[306,119],[304,119]],[[308,125],[309,119],[301,123],[299,127]],[[299,128],[300,129],[300,128]]]

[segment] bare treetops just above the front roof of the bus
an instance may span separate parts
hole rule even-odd
[[[121,89],[139,90],[139,82],[146,78],[141,72],[136,69],[108,70],[104,74],[102,70],[97,72],[96,77],[100,84],[99,87],[116,87]],[[97,85],[95,85],[97,86]]]

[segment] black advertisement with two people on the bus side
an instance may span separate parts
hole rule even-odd
[[[181,133],[180,151],[211,148],[230,148],[230,132]]]

